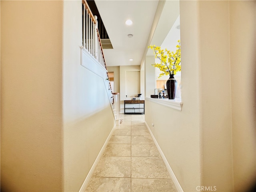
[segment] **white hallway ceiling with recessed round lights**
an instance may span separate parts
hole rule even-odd
[[[160,46],[179,16],[178,0],[95,0],[95,4],[113,46],[104,49],[107,66],[142,65],[146,54],[153,54],[147,46]],[[133,22],[130,26],[125,24],[128,19]]]

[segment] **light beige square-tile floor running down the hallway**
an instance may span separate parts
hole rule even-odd
[[[122,114],[121,119],[86,192],[176,192],[144,115]]]

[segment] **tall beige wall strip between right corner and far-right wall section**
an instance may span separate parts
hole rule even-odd
[[[218,191],[233,191],[228,9],[228,1],[200,1],[198,10],[202,184]]]

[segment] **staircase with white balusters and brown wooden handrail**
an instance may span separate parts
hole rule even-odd
[[[108,42],[109,43],[109,42]],[[112,92],[112,87],[109,81],[108,70],[103,54],[103,46],[98,30],[97,16],[93,16],[86,0],[82,0],[82,46],[81,48],[81,63],[82,66],[88,68],[95,74],[104,79],[110,105],[112,107],[113,115],[116,123],[119,124],[120,120],[120,106],[119,106],[119,93]],[[93,65],[88,65],[84,62],[86,58],[83,54],[91,55],[93,58]]]

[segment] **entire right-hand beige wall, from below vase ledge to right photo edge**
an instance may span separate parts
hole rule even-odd
[[[146,101],[145,119],[184,191],[255,179],[255,13],[255,1],[180,2],[182,112]]]

